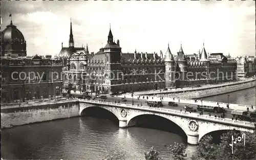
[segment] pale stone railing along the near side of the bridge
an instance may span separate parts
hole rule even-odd
[[[106,104],[106,105],[112,105],[116,107],[125,107],[125,108],[134,108],[134,109],[142,109],[146,111],[158,111],[161,113],[172,113],[172,115],[178,115],[183,117],[189,117],[189,118],[197,118],[201,120],[210,120],[213,122],[221,122],[221,123],[227,123],[227,124],[234,124],[234,125],[242,125],[247,127],[254,127],[254,123],[251,122],[241,122],[236,120],[231,120],[229,118],[217,118],[213,116],[208,115],[198,115],[197,113],[188,113],[188,112],[181,112],[173,109],[165,109],[165,108],[155,108],[155,107],[148,107],[148,106],[137,106],[137,105],[131,105],[131,104],[122,104],[122,103],[113,103],[113,102],[103,102],[103,101],[94,101],[94,100],[85,100],[85,99],[79,99],[79,102],[87,102],[87,103],[95,103],[95,104]]]

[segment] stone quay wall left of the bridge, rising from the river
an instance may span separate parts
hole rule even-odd
[[[77,100],[1,107],[1,129],[78,116]]]

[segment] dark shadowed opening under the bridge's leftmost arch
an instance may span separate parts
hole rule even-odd
[[[88,106],[80,110],[80,116],[105,118],[119,125],[118,115],[112,110],[110,110],[108,107]]]

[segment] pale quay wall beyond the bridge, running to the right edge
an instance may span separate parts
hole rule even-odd
[[[172,97],[172,98],[185,98],[185,99],[200,99],[204,97],[210,97],[210,96],[216,96],[221,94],[226,94],[230,92],[236,92],[238,90],[247,89],[255,87],[255,80],[249,81],[249,82],[243,82],[239,84],[233,84],[233,85],[224,85],[220,87],[214,87],[214,88],[204,88],[200,90],[187,90],[183,92],[173,92],[173,93],[162,93],[161,96],[164,97]],[[159,93],[157,94],[147,94],[147,95],[154,95],[154,96],[160,96]]]

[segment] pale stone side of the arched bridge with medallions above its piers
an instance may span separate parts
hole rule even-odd
[[[136,106],[121,103],[102,102],[79,99],[79,115],[89,107],[100,107],[110,111],[119,120],[119,127],[129,127],[136,124],[134,118],[141,115],[155,115],[165,118],[178,125],[187,136],[187,143],[197,145],[207,133],[218,130],[254,131],[254,123],[222,119],[197,113],[181,112],[172,109]]]

